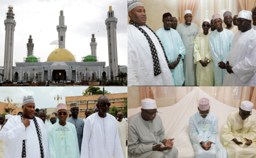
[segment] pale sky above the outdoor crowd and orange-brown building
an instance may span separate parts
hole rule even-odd
[[[38,109],[56,107],[58,102],[54,97],[60,95],[62,100],[59,103],[65,104],[66,96],[82,96],[83,87],[1,87],[0,102],[4,102],[7,96],[12,98],[12,103],[22,102],[23,96],[33,96],[35,107]],[[103,90],[103,87],[100,87]],[[127,93],[127,87],[105,87],[111,94]]]

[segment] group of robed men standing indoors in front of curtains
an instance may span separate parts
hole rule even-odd
[[[138,0],[128,0],[128,86],[255,86],[256,7],[204,19],[203,32],[184,11],[185,23],[163,14],[163,27],[146,25]],[[253,19],[253,22],[251,21]],[[223,22],[226,28],[223,28]]]

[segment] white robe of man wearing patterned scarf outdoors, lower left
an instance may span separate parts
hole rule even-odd
[[[48,142],[44,122],[41,118],[35,118],[42,133],[44,158],[48,158]],[[41,158],[35,122],[33,119],[29,119],[29,121],[29,126],[25,127],[20,116],[12,116],[0,131],[0,137],[4,143],[5,158],[21,158],[23,140],[26,143],[26,158]]]

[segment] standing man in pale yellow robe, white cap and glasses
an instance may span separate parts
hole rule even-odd
[[[214,86],[213,62],[210,43],[209,28],[210,20],[204,19],[201,36],[195,37],[194,45],[194,64],[196,64],[196,85],[197,86]]]

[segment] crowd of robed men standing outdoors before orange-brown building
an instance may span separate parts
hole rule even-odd
[[[47,112],[36,109],[32,96],[24,96],[17,116],[0,115],[0,158],[125,158],[127,122],[108,114],[111,103],[100,96],[94,113],[78,117],[79,106],[58,104],[47,122]],[[36,115],[36,116],[35,116]]]

